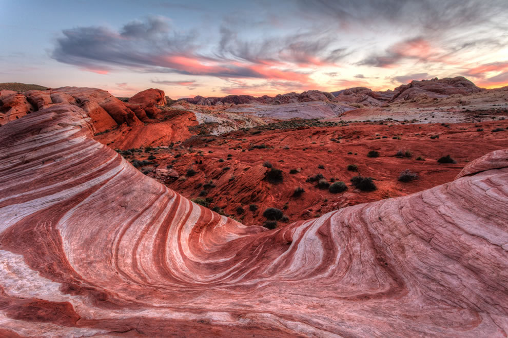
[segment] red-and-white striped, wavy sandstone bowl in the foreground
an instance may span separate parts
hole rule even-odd
[[[491,154],[427,191],[266,230],[92,135],[65,104],[0,128],[0,335],[508,332],[508,166]]]

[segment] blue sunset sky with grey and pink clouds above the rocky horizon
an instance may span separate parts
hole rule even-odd
[[[0,82],[171,98],[508,85],[508,0],[0,0]]]

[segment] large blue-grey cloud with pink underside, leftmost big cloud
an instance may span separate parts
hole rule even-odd
[[[280,53],[289,53],[281,57],[295,62],[319,64],[321,61],[305,53],[307,50],[319,50],[323,43],[306,42],[304,36],[280,50]],[[227,41],[221,44],[227,44]],[[119,32],[104,27],[64,30],[51,56],[57,61],[97,73],[123,67],[139,72],[311,82],[309,72],[289,69],[287,62],[283,63],[274,57],[263,56],[264,59],[260,59],[252,54],[254,52],[249,50],[250,47],[246,47],[248,44],[243,44],[241,49],[245,53],[242,60],[239,60],[240,54],[236,60],[217,55],[206,56],[197,51],[197,45],[195,33],[177,33],[171,29],[166,18],[148,17],[144,22],[135,20],[124,25]]]

